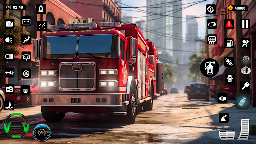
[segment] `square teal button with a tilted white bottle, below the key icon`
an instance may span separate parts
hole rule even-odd
[[[235,95],[235,107],[236,107],[236,109],[249,109],[250,108],[250,95],[248,95],[248,94]]]

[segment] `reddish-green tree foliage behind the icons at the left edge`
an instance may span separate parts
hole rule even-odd
[[[14,51],[14,55],[18,56],[20,53],[20,48],[25,46],[21,43],[21,35],[26,34],[23,26],[15,24],[14,29],[5,29],[5,19],[9,19],[8,15],[5,15],[4,18],[0,19],[0,60],[4,58],[4,51]],[[13,35],[14,36],[14,45],[4,45],[4,35]]]

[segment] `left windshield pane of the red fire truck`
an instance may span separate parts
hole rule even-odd
[[[74,58],[76,52],[76,36],[43,37],[40,48],[40,59]],[[65,54],[66,53],[66,54]]]

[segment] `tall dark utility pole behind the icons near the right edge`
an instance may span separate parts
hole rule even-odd
[[[241,5],[241,0],[234,0],[235,5]],[[242,19],[242,11],[235,11],[236,14],[236,77],[237,77],[237,94],[246,94],[246,91],[240,90],[240,81],[245,80],[245,75],[241,73],[243,65],[241,58],[244,56],[243,49],[241,48],[242,29],[240,28],[240,20]]]

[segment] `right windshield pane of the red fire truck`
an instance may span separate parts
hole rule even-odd
[[[118,35],[82,35],[78,42],[78,57],[92,58],[93,54],[97,58],[119,58],[120,43]]]

